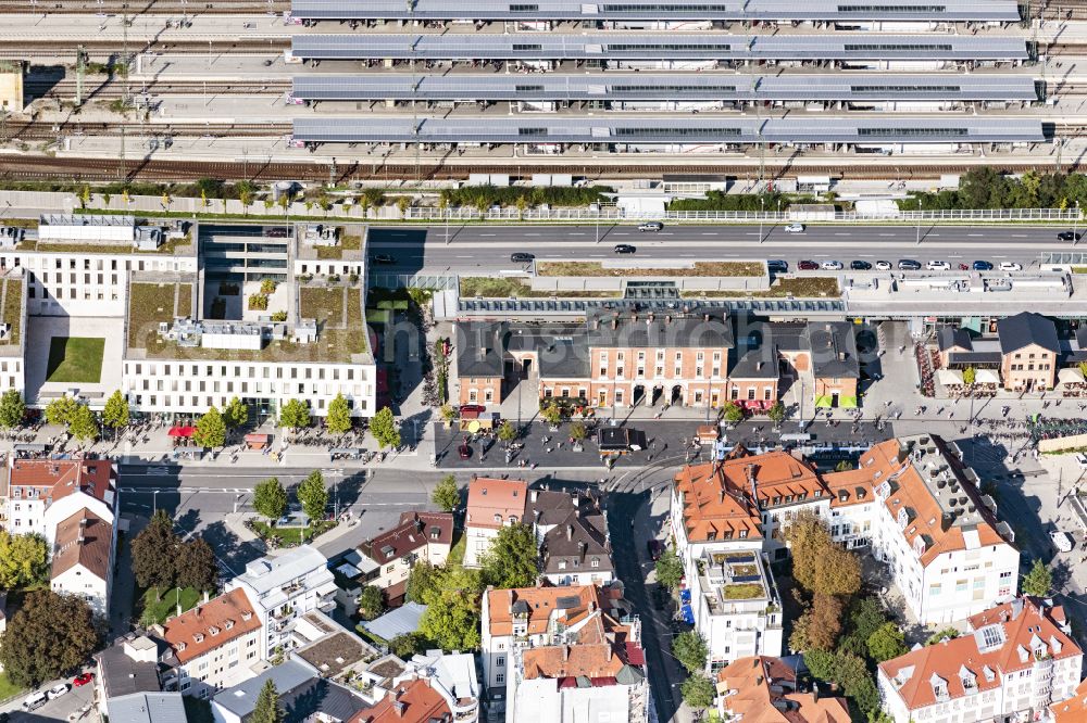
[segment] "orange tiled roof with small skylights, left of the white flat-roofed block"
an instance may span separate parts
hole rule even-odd
[[[177,659],[187,663],[260,626],[249,597],[238,587],[167,620],[162,637]]]

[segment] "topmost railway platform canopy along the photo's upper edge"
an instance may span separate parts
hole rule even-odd
[[[372,21],[934,21],[1021,20],[1016,0],[292,0],[302,20]]]

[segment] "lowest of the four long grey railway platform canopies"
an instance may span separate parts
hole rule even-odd
[[[296,118],[305,143],[759,145],[1040,143],[1040,120],[1003,117],[736,118],[655,115],[628,118]]]

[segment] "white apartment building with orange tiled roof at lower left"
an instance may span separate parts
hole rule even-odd
[[[255,675],[254,667],[264,659],[261,619],[245,589],[201,602],[152,631],[177,660],[166,686],[185,695],[211,698]]]

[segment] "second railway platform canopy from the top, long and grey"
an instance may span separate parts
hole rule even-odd
[[[398,61],[1026,61],[1023,38],[989,35],[296,35],[300,60]]]

